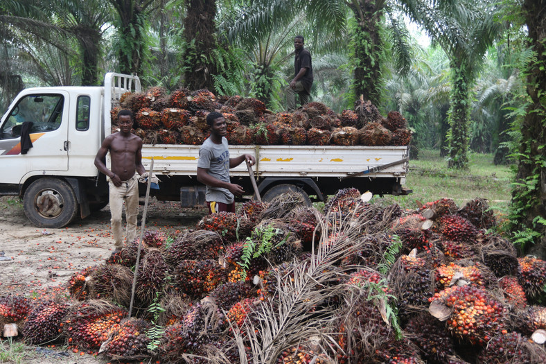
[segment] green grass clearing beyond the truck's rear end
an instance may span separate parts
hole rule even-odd
[[[410,160],[405,187],[408,196],[385,196],[405,209],[418,202],[452,198],[461,207],[473,198],[486,198],[497,214],[505,215],[511,199],[513,173],[509,166],[495,166],[493,154],[469,153],[468,170],[449,169],[439,150],[420,150],[419,159]]]

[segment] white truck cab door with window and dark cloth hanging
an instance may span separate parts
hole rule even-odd
[[[0,182],[19,183],[33,171],[68,170],[68,110],[69,94],[62,90],[19,98],[0,127],[0,156],[6,172],[0,173]],[[26,122],[32,148],[24,154],[21,131]]]

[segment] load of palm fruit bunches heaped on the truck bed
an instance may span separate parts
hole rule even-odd
[[[358,100],[354,110],[336,114],[312,102],[294,112],[274,113],[256,98],[215,96],[206,89],[177,89],[166,94],[161,87],[143,93],[123,94],[111,110],[112,132],[121,109],[134,113],[134,134],[144,144],[200,145],[209,136],[206,115],[221,112],[232,145],[407,146],[411,132],[396,111],[382,116],[370,101]]]

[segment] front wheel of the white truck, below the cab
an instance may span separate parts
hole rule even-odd
[[[76,193],[67,182],[45,177],[35,180],[25,191],[26,217],[37,227],[64,227],[78,212]]]

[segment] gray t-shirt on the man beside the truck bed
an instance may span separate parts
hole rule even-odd
[[[223,182],[231,182],[229,180],[229,149],[227,139],[222,137],[222,144],[215,144],[211,138],[207,138],[201,148],[199,148],[199,160],[197,166],[208,169],[209,175]],[[219,187],[206,187],[205,200],[207,202],[222,202],[231,204],[234,202],[233,193],[228,189]]]

